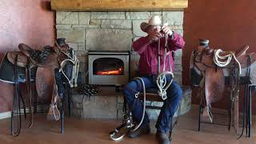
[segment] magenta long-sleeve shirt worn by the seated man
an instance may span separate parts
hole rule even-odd
[[[168,46],[169,50],[178,50],[182,49],[185,45],[185,42],[181,35],[174,33],[172,38],[168,38]],[[161,38],[161,52],[160,55],[164,55],[164,47],[165,47],[165,38]],[[137,41],[133,43],[133,48],[135,51],[140,54],[138,70],[140,74],[158,74],[158,42],[152,42],[146,37],[138,38]],[[172,70],[174,70],[174,62],[172,58],[172,54],[170,53],[170,57],[166,56],[165,62],[165,71],[169,69],[168,58],[170,58],[170,66]],[[160,60],[161,72],[163,68],[163,56],[161,56]]]

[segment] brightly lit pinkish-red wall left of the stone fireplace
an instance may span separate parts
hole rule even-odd
[[[54,19],[50,0],[1,0],[1,59],[6,51],[18,50],[21,42],[35,49],[53,45]],[[11,110],[13,89],[12,85],[0,82],[0,112]]]

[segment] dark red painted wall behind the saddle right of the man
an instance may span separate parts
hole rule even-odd
[[[186,47],[182,53],[184,84],[190,84],[190,54],[197,48],[198,38],[209,39],[212,48],[235,51],[243,45],[249,45],[249,52],[256,51],[255,7],[255,0],[189,0],[189,7],[184,13],[186,40]],[[193,90],[192,102],[198,103],[195,92]],[[229,98],[230,96],[226,94],[222,102],[215,106],[226,108]],[[255,108],[254,106],[254,110]]]

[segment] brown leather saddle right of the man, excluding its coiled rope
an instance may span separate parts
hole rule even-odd
[[[237,58],[240,63],[241,69],[246,69],[250,64],[254,63],[256,60],[256,54],[250,53],[246,54],[246,50],[249,46],[242,46],[241,49],[234,53],[235,58]],[[221,51],[219,55],[224,56],[230,54],[230,52]],[[250,57],[250,62],[248,62],[248,57]],[[190,57],[190,76],[193,86],[201,87],[198,95],[201,97],[201,104],[206,107],[208,115],[212,117],[210,111],[210,104],[212,102],[218,102],[222,99],[224,88],[225,88],[225,76],[230,76],[232,71],[236,69],[235,59],[231,59],[227,66],[217,66],[214,63],[214,50],[210,49],[209,46],[198,46],[198,50],[194,50]],[[198,74],[198,75],[197,75]],[[234,99],[233,108],[234,109],[234,129],[238,132],[238,78],[241,75],[235,75],[232,79],[230,86],[234,86],[236,91],[231,91],[231,97]],[[193,79],[198,78],[198,79]],[[235,83],[236,82],[236,83]],[[234,88],[233,87],[233,88]],[[233,94],[233,95],[232,95]],[[232,114],[230,114],[231,117]],[[212,122],[212,118],[210,118]]]

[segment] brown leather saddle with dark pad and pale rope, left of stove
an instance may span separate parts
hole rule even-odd
[[[44,46],[34,50],[24,43],[18,45],[20,51],[7,52],[0,66],[0,81],[14,83],[16,90],[19,83],[26,82],[30,97],[30,127],[33,125],[32,86],[35,82],[38,101],[51,102],[47,118],[58,120],[58,98],[63,98],[63,82],[75,82],[78,75],[78,58],[65,42],[58,38],[56,46]],[[61,71],[61,72],[60,72]],[[75,75],[74,75],[75,71]],[[15,93],[15,98],[18,93]],[[19,132],[18,132],[19,133]]]

